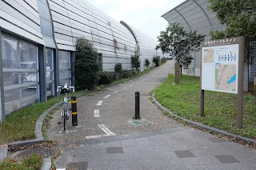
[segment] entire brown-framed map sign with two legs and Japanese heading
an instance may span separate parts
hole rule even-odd
[[[204,117],[205,90],[238,94],[237,125],[242,128],[244,45],[244,37],[201,43],[201,117]]]

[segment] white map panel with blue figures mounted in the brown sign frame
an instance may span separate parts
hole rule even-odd
[[[202,48],[202,89],[238,93],[239,45]]]

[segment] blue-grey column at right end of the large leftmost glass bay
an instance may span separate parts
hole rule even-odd
[[[39,91],[40,102],[47,101],[46,95],[46,47],[39,45]]]

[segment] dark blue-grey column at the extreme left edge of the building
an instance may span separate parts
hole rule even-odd
[[[3,75],[2,75],[2,32],[0,27],[0,123],[6,121],[6,109],[4,101]]]

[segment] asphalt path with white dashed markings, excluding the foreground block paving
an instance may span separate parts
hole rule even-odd
[[[54,113],[47,131],[48,140],[78,141],[139,132],[150,132],[162,128],[178,126],[150,101],[150,92],[174,73],[174,61],[154,69],[124,84],[114,85],[105,91],[78,98],[78,126],[68,120],[66,132],[60,121],[59,109]],[[140,113],[142,120],[134,121],[135,92],[140,93]]]

